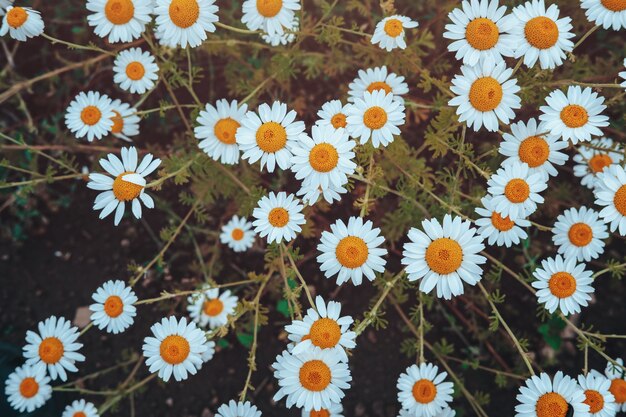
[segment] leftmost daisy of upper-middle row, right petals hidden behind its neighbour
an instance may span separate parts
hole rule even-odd
[[[215,107],[207,104],[198,115],[198,126],[194,128],[194,135],[200,141],[198,146],[209,157],[223,164],[239,162],[239,145],[235,134],[241,126],[241,121],[248,110],[247,104],[239,106],[237,100],[230,103],[222,99],[215,103]]]

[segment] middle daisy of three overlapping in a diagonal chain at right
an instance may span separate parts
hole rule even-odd
[[[494,210],[515,221],[530,216],[543,203],[540,192],[548,188],[547,176],[530,173],[528,164],[511,162],[489,178],[487,191],[493,196]]]

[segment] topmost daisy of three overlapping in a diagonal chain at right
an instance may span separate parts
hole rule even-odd
[[[555,177],[558,172],[554,165],[563,165],[567,154],[559,152],[568,147],[568,143],[558,136],[546,135],[541,124],[535,119],[513,123],[511,133],[505,133],[500,143],[500,153],[508,156],[506,163],[519,162],[528,164],[531,174],[545,172]]]

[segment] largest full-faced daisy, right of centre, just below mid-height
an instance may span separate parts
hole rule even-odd
[[[487,259],[478,253],[485,245],[469,220],[446,214],[443,225],[431,219],[422,221],[422,228],[409,230],[411,242],[402,252],[409,281],[421,280],[420,291],[437,287],[437,297],[450,300],[463,294],[463,282],[473,286],[482,279],[479,265]]]

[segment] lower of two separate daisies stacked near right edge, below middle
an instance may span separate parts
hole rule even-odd
[[[541,261],[541,268],[535,269],[537,279],[531,285],[536,288],[540,304],[554,313],[557,308],[565,315],[580,313],[580,307],[586,307],[593,293],[591,271],[585,270],[585,264],[578,265],[576,258],[557,255]]]

